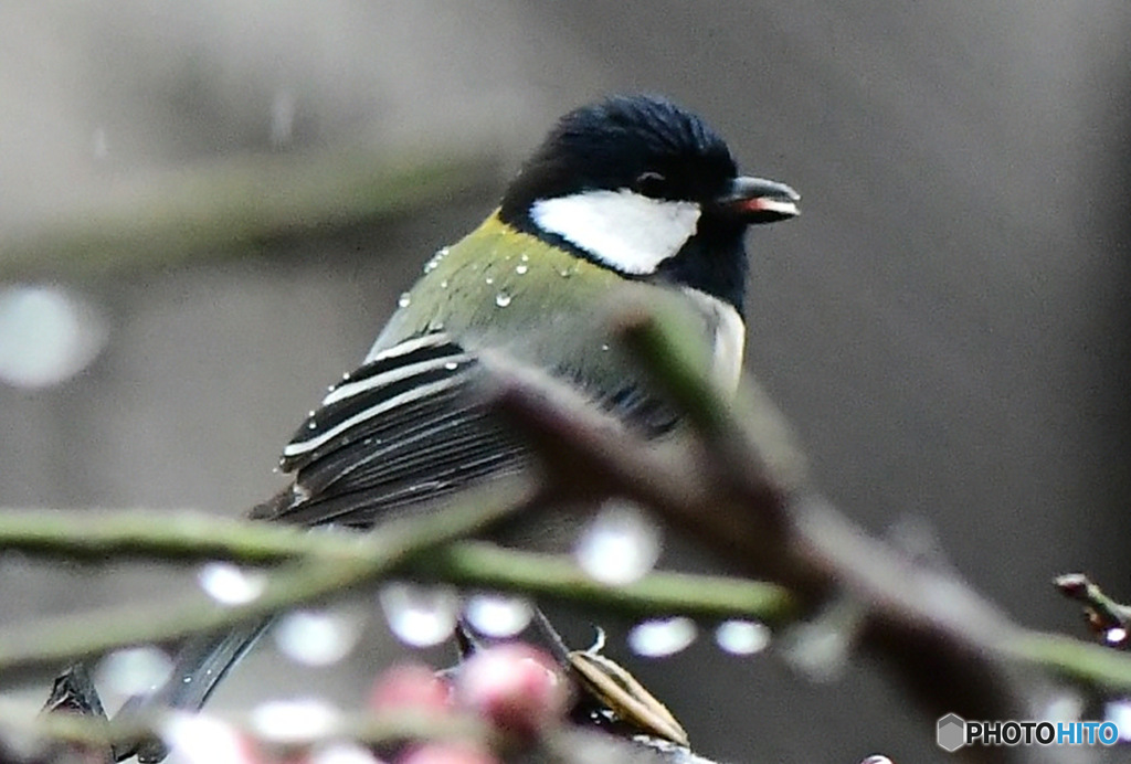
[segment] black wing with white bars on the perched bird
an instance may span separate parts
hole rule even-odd
[[[482,367],[442,332],[378,353],[335,385],[295,433],[280,467],[293,486],[252,516],[369,527],[486,477],[527,452],[474,394]]]

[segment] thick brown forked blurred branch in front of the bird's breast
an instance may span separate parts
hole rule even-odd
[[[1017,669],[1041,666],[1050,656],[1036,645],[1052,646],[1054,637],[1029,634],[960,581],[914,564],[837,512],[805,478],[778,411],[760,392],[729,403],[687,349],[679,316],[641,307],[622,313],[622,325],[629,348],[688,415],[694,442],[661,458],[561,385],[497,364],[495,406],[535,444],[558,485],[599,485],[653,507],[748,575],[785,585],[809,613],[848,599],[862,611],[851,641],[892,669],[931,718],[1036,717],[1050,675]],[[1065,674],[1122,683],[1131,663],[1097,674],[1089,646],[1078,645],[1074,654],[1087,660]],[[1007,752],[1019,761],[1045,755],[1059,756]]]

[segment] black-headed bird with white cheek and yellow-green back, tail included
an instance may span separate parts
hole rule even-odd
[[[739,382],[748,228],[794,218],[788,185],[741,175],[701,118],[651,94],[562,116],[482,224],[437,251],[361,365],[283,450],[290,485],[251,516],[369,529],[525,469],[527,446],[468,394],[504,353],[650,437],[676,417],[615,347],[597,307],[620,289],[697,319],[703,363]],[[198,709],[265,624],[201,637],[148,702]],[[141,761],[159,761],[150,749]]]

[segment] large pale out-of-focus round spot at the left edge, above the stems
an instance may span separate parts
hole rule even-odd
[[[0,381],[18,388],[59,384],[86,368],[107,336],[101,313],[69,292],[0,289]]]

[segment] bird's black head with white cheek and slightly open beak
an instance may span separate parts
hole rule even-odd
[[[739,175],[726,142],[658,96],[570,112],[527,160],[500,217],[630,278],[699,289],[740,313],[746,227],[798,214],[789,186]]]

